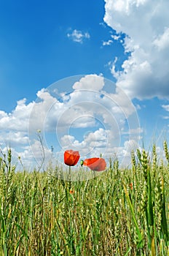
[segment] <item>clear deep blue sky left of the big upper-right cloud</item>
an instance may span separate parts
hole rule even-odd
[[[1,1],[0,12],[1,109],[11,111],[23,97],[34,100],[36,91],[71,75],[110,75],[109,49],[101,48],[110,29],[99,25],[104,1]],[[68,38],[75,29],[90,39]]]

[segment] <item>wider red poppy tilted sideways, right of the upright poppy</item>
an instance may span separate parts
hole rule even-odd
[[[89,159],[84,159],[83,165],[86,165],[90,170],[101,171],[106,169],[105,159],[99,157],[93,157]]]

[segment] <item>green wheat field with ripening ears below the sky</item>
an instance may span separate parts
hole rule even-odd
[[[0,159],[0,255],[169,255],[169,153],[131,153],[101,176],[63,181],[58,167],[15,172]],[[71,190],[71,193],[70,193]]]

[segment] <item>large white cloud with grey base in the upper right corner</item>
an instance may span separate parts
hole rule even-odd
[[[104,21],[124,33],[124,50],[129,57],[111,72],[117,86],[132,98],[169,98],[168,0],[105,0]]]

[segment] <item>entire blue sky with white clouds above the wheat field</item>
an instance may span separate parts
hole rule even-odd
[[[51,146],[58,159],[70,147],[107,159],[154,142],[160,152],[168,140],[168,7],[1,1],[1,150],[11,146],[25,165],[41,161],[41,129],[47,159]]]

